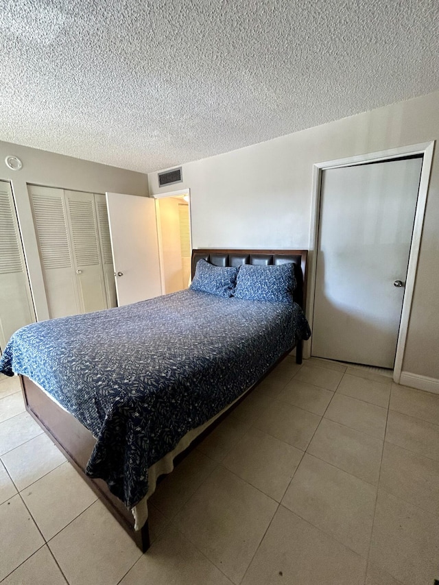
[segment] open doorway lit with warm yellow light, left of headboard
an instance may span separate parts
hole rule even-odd
[[[191,278],[190,194],[172,191],[155,195],[158,254],[163,294],[189,286]]]

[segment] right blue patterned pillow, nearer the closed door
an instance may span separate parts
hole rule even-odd
[[[243,264],[239,267],[234,296],[246,300],[293,302],[294,264]]]

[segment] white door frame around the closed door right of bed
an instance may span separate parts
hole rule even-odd
[[[352,167],[353,165],[362,165],[364,163],[379,162],[380,160],[391,160],[392,158],[401,158],[401,156],[411,156],[412,154],[423,155],[423,165],[420,171],[420,183],[418,200],[416,202],[416,211],[414,216],[414,226],[412,243],[410,246],[410,256],[407,268],[407,278],[405,282],[405,292],[403,299],[403,309],[401,311],[401,322],[399,325],[398,342],[396,344],[396,356],[393,369],[393,379],[399,383],[401,379],[401,369],[403,366],[403,357],[405,350],[405,341],[407,339],[407,330],[410,318],[410,309],[412,308],[412,299],[414,283],[416,280],[416,268],[418,266],[418,256],[420,248],[420,238],[423,230],[425,215],[425,205],[427,203],[427,192],[431,171],[431,161],[433,159],[434,142],[425,142],[383,150],[380,152],[371,152],[368,154],[359,154],[348,158],[339,158],[337,160],[327,160],[323,163],[313,165],[313,200],[311,206],[311,230],[309,236],[309,255],[310,266],[308,275],[308,298],[307,298],[307,318],[309,325],[313,326],[314,313],[314,296],[316,292],[316,271],[317,271],[317,246],[318,230],[320,224],[320,198],[322,172],[325,169],[335,169],[337,167]],[[311,339],[304,344],[304,357],[311,356]]]

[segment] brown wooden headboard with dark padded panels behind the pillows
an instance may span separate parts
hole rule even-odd
[[[195,274],[195,265],[200,259],[215,266],[270,265],[293,262],[297,281],[294,300],[302,309],[305,309],[307,253],[307,250],[219,250],[217,248],[192,250],[192,278]]]

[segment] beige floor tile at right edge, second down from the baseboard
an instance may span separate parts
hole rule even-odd
[[[439,461],[439,425],[390,410],[385,440]]]

